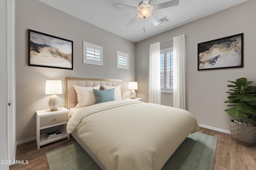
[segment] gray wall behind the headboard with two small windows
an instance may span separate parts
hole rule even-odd
[[[47,79],[62,80],[60,107],[65,106],[65,77],[123,79],[123,98],[128,82],[135,81],[135,43],[37,0],[16,1],[16,140],[36,136],[36,110],[48,109],[44,94]],[[28,29],[72,40],[74,70],[28,66]],[[83,64],[86,41],[103,47],[103,66]],[[116,68],[116,51],[129,54],[129,70]]]

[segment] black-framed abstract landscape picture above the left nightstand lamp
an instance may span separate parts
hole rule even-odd
[[[28,29],[28,66],[73,70],[73,41]]]

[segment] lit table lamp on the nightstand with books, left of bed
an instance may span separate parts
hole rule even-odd
[[[49,99],[49,107],[51,111],[57,111],[59,99],[56,94],[62,94],[61,80],[46,80],[45,94],[52,95]]]

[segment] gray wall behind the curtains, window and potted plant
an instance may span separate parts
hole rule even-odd
[[[256,1],[249,0],[232,8],[182,25],[136,43],[137,96],[148,102],[148,65],[150,44],[186,33],[186,109],[198,123],[229,130],[230,116],[224,111],[227,80],[246,77],[256,85]],[[197,44],[244,33],[244,68],[197,70]],[[166,95],[165,95],[166,97]],[[169,95],[172,100],[172,96]]]

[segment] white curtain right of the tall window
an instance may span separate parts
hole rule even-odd
[[[185,109],[185,35],[173,38],[173,106]]]

